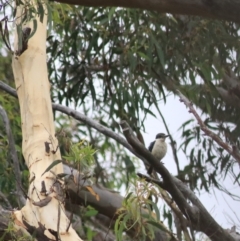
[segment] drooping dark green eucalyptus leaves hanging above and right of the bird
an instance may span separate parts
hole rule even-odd
[[[62,10],[64,24],[57,23],[48,38],[53,101],[79,109],[87,105],[114,131],[126,119],[142,140],[146,116],[161,114],[166,89],[180,89],[202,110],[210,129],[238,145],[238,109],[217,89],[226,88],[222,78],[229,69],[239,74],[237,24],[135,9]],[[233,170],[229,155],[196,125],[183,127],[181,147],[190,164],[179,176],[192,189],[219,188],[217,177]]]

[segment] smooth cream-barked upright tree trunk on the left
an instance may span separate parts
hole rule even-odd
[[[24,9],[18,7],[16,24],[21,22],[23,15]],[[56,150],[58,140],[55,138],[50,84],[47,74],[46,24],[47,15],[45,14],[43,23],[37,19],[37,31],[29,39],[27,50],[20,56],[14,54],[12,59],[21,108],[22,151],[29,168],[29,180],[35,177],[29,186],[29,199],[27,199],[26,205],[20,211],[15,212],[15,223],[21,224],[24,222],[22,219],[24,219],[31,226],[38,227],[38,222],[40,222],[46,229],[58,232],[62,241],[81,240],[71,227],[66,232],[69,220],[64,214],[62,203],[56,199],[56,193],[52,192],[53,183],[56,179],[53,173],[62,173],[62,164],[53,167],[51,169],[53,173],[47,172],[42,176],[54,160],[61,159],[59,151],[55,154],[51,152]],[[24,27],[30,27],[33,30],[33,22],[27,23]],[[14,53],[17,50],[18,34],[15,31]],[[46,152],[45,142],[51,143],[48,153]],[[43,181],[47,193],[50,194],[44,195],[44,193],[41,193]],[[43,207],[33,205],[34,202],[44,199],[50,200],[50,202]],[[48,231],[45,234],[54,239]]]

